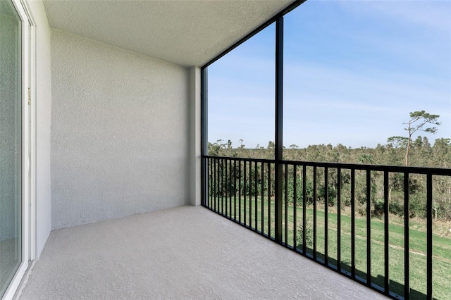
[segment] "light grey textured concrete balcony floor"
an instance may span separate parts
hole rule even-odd
[[[20,299],[385,299],[202,207],[51,232]]]

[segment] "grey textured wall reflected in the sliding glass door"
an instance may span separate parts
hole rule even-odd
[[[20,48],[18,20],[0,2],[0,240],[17,237],[20,215]],[[14,42],[16,41],[16,42]]]

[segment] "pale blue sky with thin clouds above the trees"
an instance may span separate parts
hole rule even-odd
[[[209,66],[209,142],[274,141],[274,24]],[[309,0],[284,17],[283,144],[387,144],[409,113],[451,138],[451,1]]]

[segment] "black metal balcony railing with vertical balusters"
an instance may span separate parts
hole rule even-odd
[[[433,183],[449,180],[449,169],[202,159],[206,208],[393,299],[432,299],[440,280],[433,278]],[[414,242],[411,205],[426,223]]]

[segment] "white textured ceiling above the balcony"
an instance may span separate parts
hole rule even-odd
[[[51,27],[178,65],[204,65],[294,0],[44,0]]]

